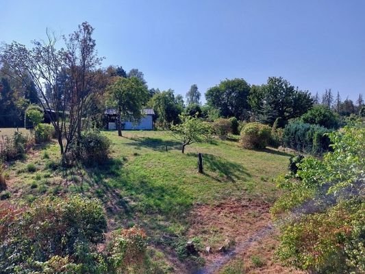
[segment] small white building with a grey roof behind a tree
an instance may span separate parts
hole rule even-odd
[[[153,109],[146,108],[142,110],[144,116],[142,119],[140,119],[139,122],[133,123],[131,121],[122,121],[122,129],[123,130],[152,130],[153,129],[153,115],[155,115],[155,112],[153,112]],[[116,110],[105,110],[104,114],[108,116],[108,129],[116,129],[116,119],[117,119],[117,113]]]

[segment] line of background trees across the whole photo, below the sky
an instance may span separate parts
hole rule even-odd
[[[138,121],[143,108],[153,108],[156,127],[169,129],[180,123],[179,115],[197,116],[207,121],[236,117],[239,121],[258,121],[284,127],[323,105],[342,116],[364,115],[362,95],[357,105],[350,99],[334,98],[331,89],[320,100],[299,90],[282,77],[268,77],[266,84],[250,85],[242,78],[225,79],[205,92],[193,84],[186,100],[174,90],[149,88],[138,69],[128,73],[122,66],[101,68],[94,28],[87,22],[68,36],[34,41],[27,48],[18,42],[5,44],[0,51],[0,127],[22,126],[25,110],[38,104],[45,111],[58,136],[61,153],[80,138],[88,127],[103,127],[106,108],[117,110],[117,121]],[[58,47],[63,42],[62,47]],[[121,136],[121,125],[118,123]]]

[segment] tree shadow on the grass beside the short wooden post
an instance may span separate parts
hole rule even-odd
[[[188,153],[187,155],[197,158],[196,153]],[[203,154],[203,166],[205,169],[204,174],[218,182],[229,181],[235,183],[236,181],[245,181],[248,177],[252,177],[241,164],[227,161],[213,154]],[[207,173],[207,171],[214,173],[214,175]]]

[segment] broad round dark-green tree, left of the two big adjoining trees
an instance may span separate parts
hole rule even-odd
[[[247,118],[250,108],[247,98],[250,86],[244,79],[225,79],[205,92],[207,104],[216,108],[222,117],[235,116],[239,120]]]

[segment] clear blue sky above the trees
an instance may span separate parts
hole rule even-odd
[[[104,66],[137,68],[149,88],[204,93],[222,79],[365,96],[363,0],[0,0],[0,41],[29,45],[46,28],[95,27]]]

